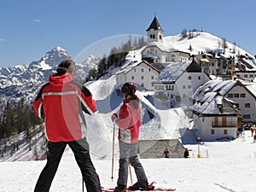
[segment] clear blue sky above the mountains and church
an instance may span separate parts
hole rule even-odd
[[[146,36],[156,14],[165,36],[199,29],[256,55],[254,0],[8,0],[0,3],[0,67],[38,61],[60,46],[73,58],[101,39]]]

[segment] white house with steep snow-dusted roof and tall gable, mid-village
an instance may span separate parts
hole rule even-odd
[[[177,62],[168,65],[152,83],[154,95],[166,100],[169,107],[192,103],[191,96],[210,77],[202,72],[195,61]]]

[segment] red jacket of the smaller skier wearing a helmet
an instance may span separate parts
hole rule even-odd
[[[139,103],[136,100],[125,100],[119,110],[119,119],[115,123],[119,125],[119,141],[137,143],[142,125]]]

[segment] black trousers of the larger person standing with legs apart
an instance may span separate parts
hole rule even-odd
[[[38,183],[36,184],[34,191],[49,192],[50,185],[55,177],[55,173],[57,172],[61,161],[61,156],[67,144],[73,150],[75,160],[82,172],[87,192],[102,191],[100,179],[90,160],[89,144],[85,137],[74,142],[48,143],[49,152],[47,155],[47,163],[38,177]]]

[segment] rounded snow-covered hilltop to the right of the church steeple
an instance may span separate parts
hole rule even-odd
[[[234,57],[235,61],[239,61],[238,65],[243,66],[240,67],[243,68],[243,71],[256,71],[255,57],[240,48],[236,43],[231,44],[225,41],[224,38],[218,38],[208,32],[194,32],[193,36],[193,38],[183,38],[182,35],[178,34],[165,37],[163,44],[159,42],[152,44],[158,44],[161,49],[166,51],[179,50],[190,55],[199,55],[204,52],[206,54],[224,56],[225,58]],[[240,68],[237,67],[236,70],[240,71]]]

